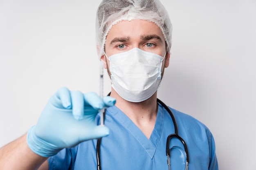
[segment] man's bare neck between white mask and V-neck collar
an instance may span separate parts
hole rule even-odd
[[[157,116],[157,92],[149,99],[138,103],[124,100],[114,89],[110,96],[116,98],[115,106],[129,117],[149,139]]]

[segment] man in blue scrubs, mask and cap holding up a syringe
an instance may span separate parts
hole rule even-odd
[[[166,138],[174,133],[175,122],[168,108],[157,103],[170,58],[168,14],[158,0],[103,0],[96,24],[98,54],[112,82],[110,97],[59,89],[36,126],[0,150],[3,169],[168,169]],[[102,108],[105,126],[97,126]],[[171,168],[184,169],[189,157],[189,170],[218,170],[209,129],[171,111],[189,152],[178,138],[172,139]]]

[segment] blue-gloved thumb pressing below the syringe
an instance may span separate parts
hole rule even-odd
[[[83,131],[81,133],[80,139],[81,141],[86,141],[90,139],[97,139],[101,137],[106,137],[109,135],[109,129],[106,126],[95,126],[93,129],[90,129],[90,131]]]

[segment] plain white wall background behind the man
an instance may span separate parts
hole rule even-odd
[[[36,124],[61,86],[99,91],[99,3],[0,0],[0,146]],[[254,169],[256,0],[162,3],[173,23],[173,45],[159,99],[209,127],[220,170]]]

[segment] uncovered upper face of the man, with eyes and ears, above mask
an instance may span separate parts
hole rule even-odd
[[[143,51],[155,53],[164,57],[166,45],[161,29],[153,22],[145,20],[121,21],[112,26],[105,44],[105,53],[111,55],[138,48]],[[169,65],[170,54],[166,53],[163,61],[162,72]],[[101,56],[105,68],[108,68],[109,61]]]

